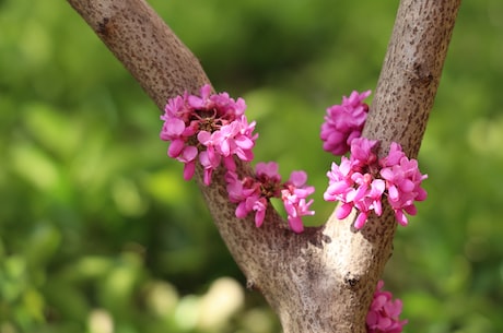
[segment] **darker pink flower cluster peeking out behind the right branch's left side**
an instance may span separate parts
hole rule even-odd
[[[369,105],[363,103],[363,99],[370,94],[371,91],[361,94],[352,92],[349,97],[342,97],[341,105],[327,108],[320,132],[325,151],[334,155],[343,155],[349,151],[351,141],[360,138],[369,112]]]

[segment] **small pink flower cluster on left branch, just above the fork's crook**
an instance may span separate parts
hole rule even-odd
[[[288,221],[294,233],[302,233],[302,216],[314,215],[309,211],[313,200],[306,201],[314,192],[314,187],[306,186],[305,171],[293,171],[290,179],[281,182],[278,164],[258,163],[254,177],[239,179],[233,171],[225,175],[231,202],[237,203],[236,216],[242,218],[255,212],[255,225],[260,227],[271,198],[280,198],[286,211]]]

